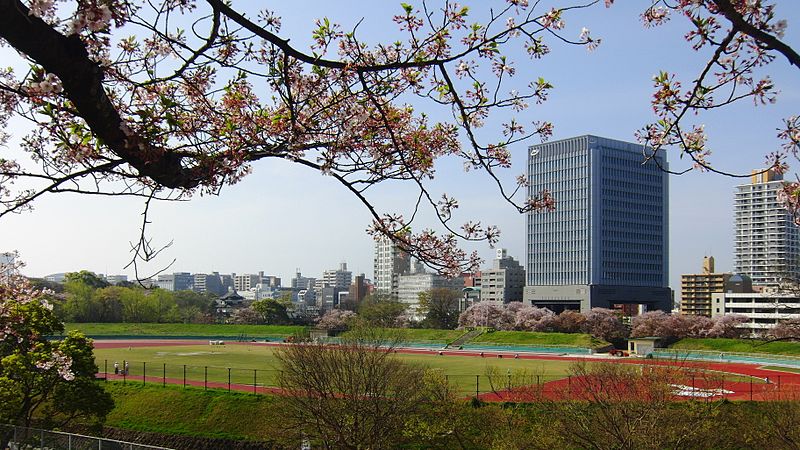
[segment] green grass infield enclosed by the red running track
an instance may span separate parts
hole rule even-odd
[[[275,358],[276,347],[264,345],[181,345],[163,347],[96,348],[95,360],[100,371],[113,373],[113,364],[129,363],[128,375],[135,380],[160,383],[164,378],[182,382],[223,383],[253,386],[276,386],[280,369]],[[481,358],[475,356],[441,356],[398,353],[397,357],[440,369],[459,392],[488,392],[491,385],[533,384],[552,381],[567,375],[571,362],[513,358]],[[184,369],[185,365],[185,369]],[[229,370],[230,369],[230,370]],[[488,374],[493,376],[489,377]],[[169,381],[168,381],[169,382]]]

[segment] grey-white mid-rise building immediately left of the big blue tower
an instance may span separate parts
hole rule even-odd
[[[506,249],[497,249],[492,268],[481,271],[481,300],[521,302],[524,287],[525,269],[517,260],[508,256]]]

